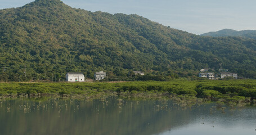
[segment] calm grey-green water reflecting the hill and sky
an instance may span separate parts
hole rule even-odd
[[[0,134],[255,134],[256,107],[218,110],[165,100],[0,101]]]

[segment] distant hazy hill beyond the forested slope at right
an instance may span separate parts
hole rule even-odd
[[[223,29],[216,32],[209,32],[201,34],[201,36],[210,36],[210,37],[242,37],[242,38],[251,38],[256,39],[256,30],[241,30],[236,31],[232,29]]]

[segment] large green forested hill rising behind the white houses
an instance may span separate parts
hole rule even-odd
[[[0,10],[0,81],[59,80],[68,71],[125,78],[130,70],[188,77],[225,68],[256,78],[256,40],[200,37],[138,15],[36,0]]]

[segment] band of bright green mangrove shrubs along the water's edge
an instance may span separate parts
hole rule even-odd
[[[0,96],[43,95],[95,97],[179,97],[203,98],[218,104],[255,103],[256,80],[173,80],[170,82],[95,82],[95,83],[0,83]]]

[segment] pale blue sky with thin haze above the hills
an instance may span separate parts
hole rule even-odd
[[[0,9],[34,0],[0,0]],[[62,0],[88,11],[137,14],[194,34],[221,29],[256,30],[255,0]]]

